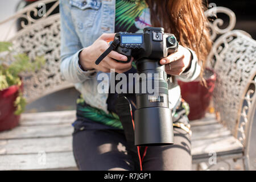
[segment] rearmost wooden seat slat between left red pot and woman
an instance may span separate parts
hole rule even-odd
[[[20,117],[20,126],[56,125],[72,123],[76,119],[75,110],[52,111],[43,113],[24,113]]]

